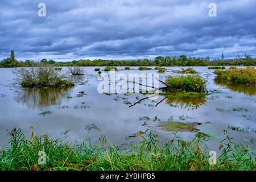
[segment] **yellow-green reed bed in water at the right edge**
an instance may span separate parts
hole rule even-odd
[[[214,71],[217,81],[225,81],[233,84],[248,84],[255,86],[256,69],[248,67],[245,69],[230,69],[226,71]]]

